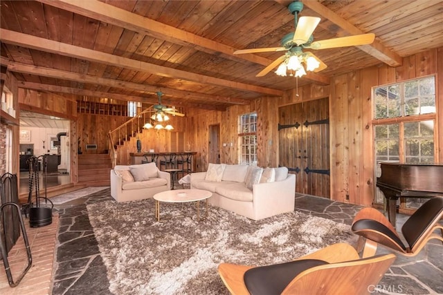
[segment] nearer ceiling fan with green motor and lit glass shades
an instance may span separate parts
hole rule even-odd
[[[316,57],[314,53],[311,53],[310,51],[303,52],[303,49],[319,50],[346,46],[359,46],[371,44],[374,41],[375,35],[372,33],[314,41],[312,32],[314,32],[318,26],[318,23],[320,23],[320,17],[300,17],[300,19],[298,19],[298,13],[300,13],[300,11],[303,9],[303,3],[301,1],[292,2],[289,4],[288,9],[289,12],[294,15],[296,30],[295,32],[291,32],[282,38],[282,46],[242,49],[234,52],[235,55],[239,55],[243,53],[287,51],[287,53],[281,57],[278,57],[278,59],[275,59],[275,61],[269,64],[269,66],[266,66],[266,68],[264,68],[255,77],[262,77],[266,75],[279,64],[280,66],[275,73],[281,76],[286,76],[287,70],[289,70],[289,75],[294,75],[296,77],[305,75],[306,72],[305,68],[302,66],[302,63],[306,64],[307,70],[319,72],[320,70],[327,68],[326,64]]]

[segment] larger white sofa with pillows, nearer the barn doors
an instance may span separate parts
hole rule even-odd
[[[218,165],[209,164],[208,171],[190,175],[191,189],[213,193],[209,204],[253,220],[294,210],[296,175],[289,174],[286,167],[262,169],[260,179],[255,173],[251,181],[251,171],[257,171],[257,167]]]

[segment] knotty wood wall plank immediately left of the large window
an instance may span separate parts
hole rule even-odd
[[[375,167],[374,167],[374,135],[372,129],[372,86],[377,85],[377,67],[361,70],[361,108],[362,108],[362,135],[361,149],[363,151],[361,171],[360,197],[358,203],[370,206],[374,200],[375,193]]]

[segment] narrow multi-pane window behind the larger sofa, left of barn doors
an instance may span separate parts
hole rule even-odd
[[[239,116],[240,164],[257,165],[257,113]]]

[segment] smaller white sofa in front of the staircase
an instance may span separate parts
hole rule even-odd
[[[171,189],[170,173],[155,163],[116,165],[111,169],[111,196],[118,202],[152,198]]]

